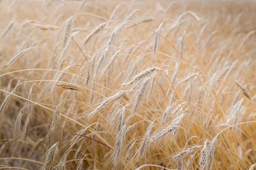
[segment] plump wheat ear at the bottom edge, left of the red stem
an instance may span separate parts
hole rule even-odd
[[[59,141],[56,142],[51,148],[49,148],[49,150],[47,150],[46,159],[42,168],[43,170],[51,170],[52,162],[56,157],[56,155],[58,154],[58,144],[59,144]]]

